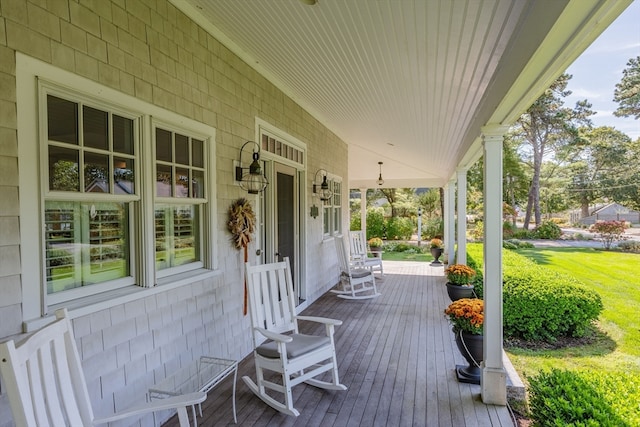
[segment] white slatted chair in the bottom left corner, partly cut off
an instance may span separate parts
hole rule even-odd
[[[56,318],[17,346],[13,340],[0,343],[0,373],[17,427],[88,427],[165,409],[177,409],[180,426],[189,426],[187,407],[204,401],[205,393],[155,400],[96,419],[66,309],[56,311]]]

